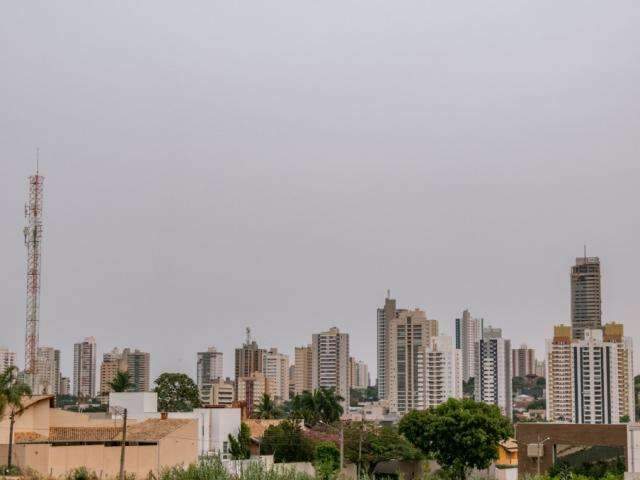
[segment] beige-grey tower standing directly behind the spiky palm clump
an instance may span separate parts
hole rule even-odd
[[[349,405],[349,334],[336,327],[314,333],[311,350],[313,390],[333,388]]]

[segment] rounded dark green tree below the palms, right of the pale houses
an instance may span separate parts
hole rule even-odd
[[[304,436],[298,423],[284,420],[271,425],[262,436],[262,455],[273,455],[275,462],[310,462],[313,460],[313,444]]]

